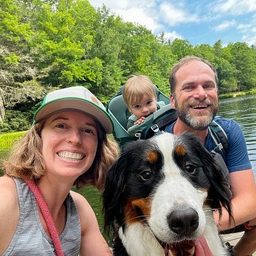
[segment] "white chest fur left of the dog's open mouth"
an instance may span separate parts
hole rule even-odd
[[[122,227],[119,228],[119,237],[129,255],[164,256],[162,246],[157,242],[154,234],[148,230],[150,229],[141,223],[133,223],[126,227],[124,235]]]

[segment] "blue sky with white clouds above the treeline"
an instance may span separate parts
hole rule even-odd
[[[155,35],[186,39],[192,45],[221,40],[256,45],[256,0],[89,0],[105,4],[122,20],[141,24]]]

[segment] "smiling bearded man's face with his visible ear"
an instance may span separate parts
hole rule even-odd
[[[205,130],[218,112],[218,90],[214,72],[204,62],[191,60],[175,74],[172,107],[180,120],[195,130]]]

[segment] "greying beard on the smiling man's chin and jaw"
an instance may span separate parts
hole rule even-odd
[[[201,118],[200,115],[196,116],[196,118],[193,117],[186,111],[186,107],[179,108],[179,106],[175,106],[175,108],[177,110],[180,120],[182,120],[184,124],[193,128],[195,131],[204,131],[205,129],[207,129],[218,113],[218,106],[216,105],[212,105],[211,113],[209,113],[209,115],[204,118]]]

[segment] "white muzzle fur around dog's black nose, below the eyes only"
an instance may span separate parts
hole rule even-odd
[[[152,200],[149,225],[154,234],[166,243],[179,241],[179,236],[168,226],[167,217],[177,207],[191,207],[199,217],[199,225],[191,238],[198,238],[204,232],[205,214],[202,209],[206,192],[195,189],[184,177],[173,175],[164,179],[159,185]]]

